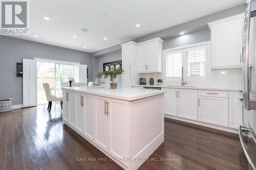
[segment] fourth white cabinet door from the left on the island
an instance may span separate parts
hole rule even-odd
[[[89,139],[95,139],[95,98],[91,95],[85,95],[85,120],[84,120],[84,135]]]

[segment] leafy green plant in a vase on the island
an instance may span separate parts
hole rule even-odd
[[[119,67],[119,68],[111,68],[109,71],[102,71],[99,72],[97,75],[98,79],[101,79],[102,77],[104,77],[105,79],[110,77],[110,88],[111,89],[116,89],[117,88],[117,83],[115,83],[115,79],[117,78],[117,76],[122,75],[124,72],[124,70]]]

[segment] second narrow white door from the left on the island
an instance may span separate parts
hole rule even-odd
[[[76,127],[76,94],[69,92],[69,102],[70,102],[70,116],[69,123],[74,128]]]

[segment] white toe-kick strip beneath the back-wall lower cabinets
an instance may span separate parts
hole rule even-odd
[[[190,120],[190,119],[186,119],[186,118],[182,118],[182,117],[177,117],[177,116],[172,116],[172,115],[168,115],[168,114],[164,114],[164,117],[172,118],[172,119],[175,119],[175,120],[181,120],[183,122],[187,122],[187,123],[191,123],[191,124],[196,124],[196,125],[200,125],[200,126],[205,126],[205,127],[208,127],[208,128],[218,129],[218,130],[225,131],[225,132],[230,132],[230,133],[238,134],[238,129],[233,129],[233,128],[229,128],[229,127],[223,127],[223,126],[218,126],[218,125],[212,125],[212,124],[208,124],[208,123],[204,123],[204,122],[199,122],[197,120]]]

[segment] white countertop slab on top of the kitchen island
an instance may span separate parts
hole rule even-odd
[[[106,98],[113,98],[125,101],[134,101],[150,96],[163,94],[166,90],[150,90],[150,89],[138,89],[138,88],[100,88],[99,86],[90,87],[62,87],[63,90],[70,90],[80,93],[99,95]]]

